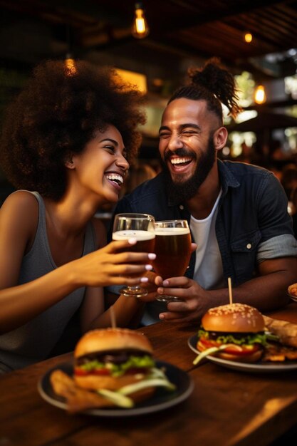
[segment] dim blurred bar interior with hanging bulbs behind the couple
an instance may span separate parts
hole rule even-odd
[[[0,0],[0,7],[0,119],[31,68],[46,58],[114,66],[147,96],[141,182],[160,169],[157,131],[167,98],[187,68],[216,56],[236,76],[244,108],[236,122],[226,116],[229,142],[220,157],[273,170],[291,199],[297,186],[297,1]],[[11,190],[1,173],[0,204]],[[102,218],[109,212],[98,209]]]

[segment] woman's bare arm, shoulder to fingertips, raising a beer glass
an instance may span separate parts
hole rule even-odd
[[[21,261],[36,232],[34,202],[24,197],[16,199],[19,193],[6,200],[0,214],[0,333],[23,325],[81,286],[139,283],[148,256],[125,251],[129,242],[123,241],[112,242],[36,280],[17,285]]]

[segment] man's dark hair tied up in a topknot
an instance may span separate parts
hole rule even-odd
[[[206,100],[207,108],[223,121],[222,103],[229,108],[230,115],[236,117],[241,111],[237,104],[238,95],[234,77],[221,65],[218,58],[211,58],[203,68],[188,71],[191,83],[178,88],[169,100],[187,98]]]

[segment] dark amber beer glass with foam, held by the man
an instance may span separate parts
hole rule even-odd
[[[183,276],[191,256],[191,234],[187,220],[155,222],[155,254],[152,262],[162,279]],[[157,296],[157,301],[180,301],[174,296]]]

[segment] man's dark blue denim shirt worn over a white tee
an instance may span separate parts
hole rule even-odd
[[[216,221],[217,242],[224,279],[231,277],[232,284],[238,286],[256,275],[261,261],[297,256],[297,242],[287,212],[286,194],[273,173],[241,162],[217,162],[222,187]],[[123,197],[114,213],[121,212],[145,212],[155,220],[187,219],[189,222],[191,217],[186,204],[168,199],[162,173]],[[195,253],[186,273],[190,278],[194,264]]]

